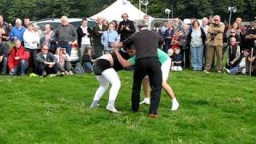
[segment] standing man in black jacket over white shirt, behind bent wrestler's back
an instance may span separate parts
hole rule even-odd
[[[93,28],[93,43],[94,43],[94,54],[96,58],[99,58],[103,54],[103,46],[101,42],[102,34],[107,30],[106,26],[102,24],[102,17],[97,18],[98,25]]]

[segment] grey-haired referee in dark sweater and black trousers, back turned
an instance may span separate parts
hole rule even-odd
[[[146,21],[138,22],[139,32],[130,36],[123,42],[114,43],[112,47],[121,48],[134,45],[136,50],[136,63],[134,70],[134,83],[132,90],[132,110],[138,111],[140,102],[140,90],[142,79],[146,74],[150,78],[151,97],[150,97],[150,117],[158,117],[158,106],[162,90],[162,71],[158,59],[158,42],[161,36],[147,30]]]

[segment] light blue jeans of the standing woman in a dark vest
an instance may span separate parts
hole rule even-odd
[[[202,70],[203,45],[197,47],[190,46],[190,50],[193,70]]]

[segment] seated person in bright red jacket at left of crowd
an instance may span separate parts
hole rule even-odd
[[[10,50],[8,57],[9,74],[20,74],[25,76],[26,69],[29,66],[30,53],[22,46],[22,42],[17,38],[14,40],[15,46]]]

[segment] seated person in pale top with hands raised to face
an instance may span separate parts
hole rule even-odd
[[[65,72],[65,74],[73,75],[73,67],[70,62],[70,56],[66,53],[66,49],[59,47],[54,56],[57,59],[59,70]]]

